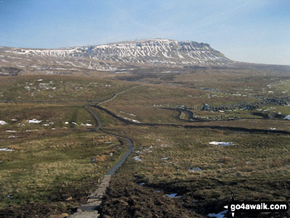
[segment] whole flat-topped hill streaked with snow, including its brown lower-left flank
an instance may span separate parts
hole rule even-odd
[[[205,43],[138,40],[58,49],[0,47],[2,62],[38,70],[125,70],[138,66],[227,66],[232,63]],[[138,66],[137,66],[138,65]]]

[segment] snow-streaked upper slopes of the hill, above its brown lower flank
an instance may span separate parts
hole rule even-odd
[[[141,63],[178,67],[228,65],[231,62],[219,51],[211,48],[209,44],[162,39],[61,49],[9,48],[5,51],[43,58],[87,58],[125,64]]]

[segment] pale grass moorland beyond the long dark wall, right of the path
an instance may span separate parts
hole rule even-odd
[[[101,106],[141,123],[289,129],[284,120],[290,114],[289,74],[209,70],[173,73],[170,80],[160,79],[166,78],[163,74],[159,76],[149,75],[150,83],[145,80],[147,83]],[[140,78],[144,80],[144,75]],[[210,107],[205,108],[206,105]]]

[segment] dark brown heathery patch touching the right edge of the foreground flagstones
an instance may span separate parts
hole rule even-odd
[[[166,197],[155,188],[143,187],[122,176],[113,177],[107,189],[101,218],[205,218],[182,206],[179,198]]]

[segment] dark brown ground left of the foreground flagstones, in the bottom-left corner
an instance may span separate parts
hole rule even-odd
[[[41,196],[42,201],[38,202],[15,205],[14,201],[18,199],[12,198],[7,207],[0,209],[0,218],[49,218],[50,215],[73,214],[79,205],[86,202],[89,189],[96,186],[96,181],[83,180],[67,186],[56,182],[46,189],[46,194]],[[69,197],[73,199],[66,201]]]

